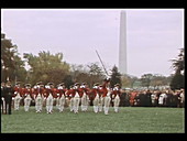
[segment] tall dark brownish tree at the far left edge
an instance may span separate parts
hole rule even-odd
[[[13,80],[24,80],[26,70],[24,62],[18,53],[18,46],[12,44],[11,40],[6,39],[1,33],[1,82],[8,78]]]

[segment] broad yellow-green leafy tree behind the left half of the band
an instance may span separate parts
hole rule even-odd
[[[28,73],[30,76],[28,76],[28,82],[32,85],[37,82],[59,84],[66,75],[69,75],[70,67],[66,62],[63,62],[62,53],[53,55],[43,51],[38,53],[38,56],[25,53],[24,58],[31,67]]]

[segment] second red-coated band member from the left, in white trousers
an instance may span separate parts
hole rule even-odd
[[[31,84],[25,85],[23,97],[24,97],[24,110],[29,111],[30,106],[31,106],[31,100],[33,99]]]

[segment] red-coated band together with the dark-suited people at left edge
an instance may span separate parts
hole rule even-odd
[[[12,86],[8,82],[1,83],[1,109],[2,113],[11,115],[12,107],[19,111],[22,105],[24,111],[29,112],[31,105],[34,104],[35,112],[53,113],[54,110],[63,112],[65,107],[69,107],[72,112],[78,113],[79,110],[88,111],[92,102],[95,113],[103,111],[105,115],[109,115],[111,102],[114,112],[119,112],[120,95],[120,85],[116,84],[114,88],[110,88],[110,78],[106,78],[101,85],[95,84],[92,88],[89,88],[86,83],[75,83],[69,89],[64,83],[56,87],[53,83],[43,85],[42,82],[33,87],[31,84],[21,87],[20,83]]]

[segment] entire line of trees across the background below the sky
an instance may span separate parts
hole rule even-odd
[[[131,75],[121,75],[114,65],[109,74],[111,77],[111,87],[120,84],[122,87],[157,87],[169,85],[172,89],[184,88],[185,74],[185,54],[184,48],[177,58],[170,59],[175,74],[166,77],[160,74],[144,74],[141,78]],[[30,83],[35,85],[37,82],[44,84],[52,82],[54,84],[65,83],[66,87],[75,83],[87,83],[92,86],[95,83],[101,83],[106,74],[98,62],[87,65],[69,64],[64,61],[63,53],[52,54],[48,51],[41,51],[37,55],[24,53],[20,57],[18,46],[12,44],[11,40],[6,39],[1,33],[1,82],[8,79],[15,83]]]

